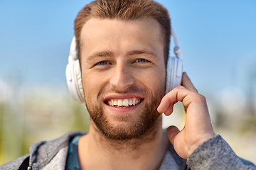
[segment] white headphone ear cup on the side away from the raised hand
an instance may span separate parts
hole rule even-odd
[[[68,63],[66,67],[66,78],[68,90],[70,91],[72,98],[80,103],[85,103],[79,60],[74,60]]]

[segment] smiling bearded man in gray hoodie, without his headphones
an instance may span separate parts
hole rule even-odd
[[[97,0],[75,19],[90,132],[38,142],[1,169],[256,169],[215,135],[206,99],[187,74],[165,94],[171,24],[149,0]],[[176,102],[183,130],[161,128]],[[187,160],[186,160],[187,159]]]

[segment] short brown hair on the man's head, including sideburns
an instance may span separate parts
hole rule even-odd
[[[171,20],[169,13],[153,0],[95,0],[87,4],[75,18],[75,38],[80,58],[80,34],[90,18],[119,18],[123,21],[152,17],[160,23],[164,38],[164,60],[169,56]]]

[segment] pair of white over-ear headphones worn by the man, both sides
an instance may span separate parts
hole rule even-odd
[[[183,70],[183,56],[178,42],[178,37],[173,28],[171,28],[171,37],[174,39],[174,54],[176,57],[168,57],[166,65],[166,94],[181,85],[182,70]],[[68,90],[75,101],[85,103],[85,96],[82,89],[82,75],[80,64],[78,60],[78,53],[76,51],[75,37],[70,45],[70,55],[68,56],[68,65],[66,67],[66,78]]]

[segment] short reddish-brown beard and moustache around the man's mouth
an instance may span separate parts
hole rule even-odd
[[[137,93],[143,94],[144,106],[141,107],[137,113],[137,118],[134,115],[116,115],[114,120],[118,120],[118,123],[114,123],[112,119],[105,114],[103,111],[102,103],[101,105],[96,104],[97,102],[91,102],[89,98],[86,98],[87,110],[90,114],[90,118],[93,120],[97,129],[102,132],[105,137],[110,140],[116,140],[119,142],[124,142],[133,139],[140,139],[145,135],[154,134],[158,130],[160,113],[157,112],[157,107],[161,101],[162,96],[164,96],[164,91],[158,93],[158,96],[153,96],[149,89],[139,89],[136,86],[131,86],[126,91],[115,91],[114,89],[108,89],[100,91],[99,96],[105,94],[106,92],[114,92],[117,94],[129,94]],[[142,104],[142,103],[141,103]],[[149,140],[149,139],[148,139]]]

